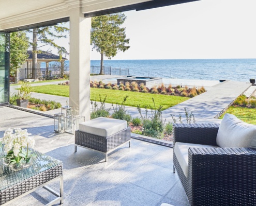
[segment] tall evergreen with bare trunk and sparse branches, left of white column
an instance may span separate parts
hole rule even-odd
[[[69,28],[63,27],[61,25],[33,29],[32,78],[36,77],[37,54],[41,53],[41,50],[39,50],[40,47],[50,45],[54,48],[57,48],[58,55],[60,57],[59,60],[61,60],[62,57],[67,54],[67,50],[65,49],[65,47],[59,46],[54,43],[54,39],[67,38],[66,35],[63,35],[63,33],[68,30]],[[38,46],[39,43],[42,43],[43,45]]]

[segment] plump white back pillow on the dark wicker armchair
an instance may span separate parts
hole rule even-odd
[[[220,147],[256,147],[256,125],[245,123],[233,114],[225,114],[216,141]]]

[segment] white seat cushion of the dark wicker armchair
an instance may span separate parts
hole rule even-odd
[[[188,177],[188,148],[194,147],[217,147],[213,145],[200,145],[200,144],[190,144],[184,142],[176,142],[174,147],[174,152],[179,162],[180,167],[182,167],[183,173],[186,177]]]

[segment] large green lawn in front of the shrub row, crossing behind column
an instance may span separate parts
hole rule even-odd
[[[33,87],[33,92],[52,94],[58,96],[69,96],[69,86],[66,85],[43,85]],[[179,96],[168,96],[161,94],[150,94],[150,93],[141,93],[141,92],[129,92],[129,91],[119,91],[119,90],[107,90],[107,89],[97,89],[91,88],[91,100],[99,100],[99,94],[103,99],[107,95],[107,103],[112,104],[121,104],[125,96],[129,96],[126,100],[126,106],[137,107],[140,105],[141,108],[145,106],[153,105],[152,98],[154,98],[156,107],[159,105],[163,106],[162,110],[168,109],[174,105],[177,105],[187,99],[188,97],[179,97]]]

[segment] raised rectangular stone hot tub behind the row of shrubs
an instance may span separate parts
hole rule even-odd
[[[117,85],[119,85],[121,82],[137,82],[138,85],[141,83],[144,83],[146,87],[152,87],[155,84],[160,84],[162,83],[162,78],[159,77],[136,77],[136,76],[127,76],[127,77],[120,77],[116,78],[117,79]]]

